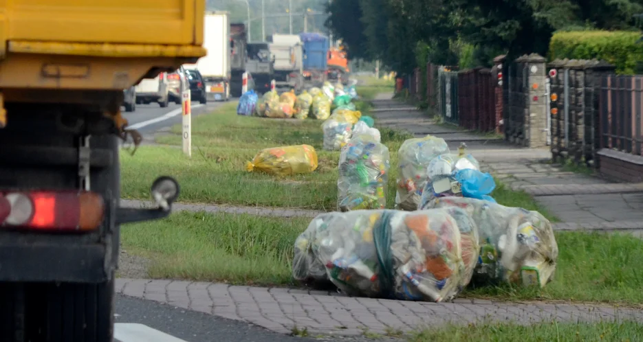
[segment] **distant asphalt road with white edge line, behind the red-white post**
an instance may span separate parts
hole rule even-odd
[[[234,101],[236,99],[231,99]],[[208,102],[203,105],[198,102],[192,103],[192,116],[196,117],[209,113],[226,102]],[[158,104],[137,104],[136,111],[124,112],[122,115],[142,135],[151,134],[161,128],[180,124],[182,108],[180,104],[171,103],[166,108],[161,108]],[[143,125],[142,127],[138,127]]]

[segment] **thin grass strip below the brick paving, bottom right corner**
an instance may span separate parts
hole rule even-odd
[[[470,324],[427,329],[408,338],[409,342],[549,342],[549,341],[642,341],[643,325],[634,321],[599,323]]]

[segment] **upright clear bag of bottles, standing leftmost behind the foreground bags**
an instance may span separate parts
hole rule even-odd
[[[341,212],[386,207],[389,159],[389,148],[379,139],[353,133],[339,159],[337,206]]]

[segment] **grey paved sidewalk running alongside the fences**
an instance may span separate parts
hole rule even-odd
[[[404,129],[416,137],[446,139],[457,150],[465,141],[469,152],[514,190],[524,190],[556,215],[565,227],[636,229],[643,233],[643,183],[613,183],[596,176],[566,172],[549,163],[548,149],[521,148],[503,139],[445,128],[424,113],[380,94],[373,101],[378,125]]]

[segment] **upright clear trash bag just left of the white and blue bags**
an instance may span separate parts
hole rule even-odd
[[[427,135],[424,138],[408,139],[397,150],[397,192],[395,209],[417,210],[426,186],[426,168],[438,155],[449,152],[446,141]]]

